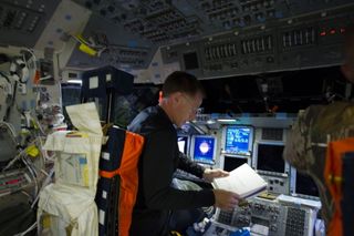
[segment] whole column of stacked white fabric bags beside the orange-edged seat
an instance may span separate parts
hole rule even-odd
[[[98,158],[104,137],[94,103],[66,107],[79,131],[49,135],[44,150],[55,152],[55,183],[40,194],[39,235],[96,236],[97,207],[94,202]]]

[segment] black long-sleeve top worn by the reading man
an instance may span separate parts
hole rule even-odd
[[[145,137],[139,158],[139,186],[133,212],[131,235],[162,235],[173,209],[215,204],[211,189],[180,191],[170,186],[176,168],[202,177],[205,168],[181,156],[177,132],[160,106],[140,112],[128,130]]]

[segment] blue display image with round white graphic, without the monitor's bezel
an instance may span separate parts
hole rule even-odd
[[[194,147],[194,160],[196,162],[214,164],[214,137],[195,136]]]

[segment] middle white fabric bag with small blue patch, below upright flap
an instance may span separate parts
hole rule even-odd
[[[43,148],[55,151],[55,183],[96,192],[102,135],[59,131],[49,135]]]

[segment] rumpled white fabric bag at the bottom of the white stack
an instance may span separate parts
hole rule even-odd
[[[51,184],[41,193],[38,224],[41,236],[96,236],[97,206],[88,191]]]

